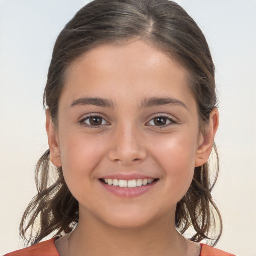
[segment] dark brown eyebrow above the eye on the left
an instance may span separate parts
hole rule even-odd
[[[105,98],[82,97],[75,99],[70,105],[70,107],[74,107],[77,105],[94,105],[100,107],[114,108],[115,103]]]

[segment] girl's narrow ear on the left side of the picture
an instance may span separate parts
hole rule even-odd
[[[56,167],[61,167],[60,149],[58,144],[57,130],[54,126],[49,108],[46,109],[46,131],[50,149],[50,160]]]

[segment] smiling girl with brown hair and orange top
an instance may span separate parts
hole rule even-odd
[[[207,42],[176,3],[83,7],[48,71],[49,150],[20,225],[32,246],[7,255],[231,255],[199,243],[222,231],[207,162],[216,101]]]

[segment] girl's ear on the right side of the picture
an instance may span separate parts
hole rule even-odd
[[[199,147],[195,156],[195,167],[201,166],[207,162],[212,151],[214,137],[218,129],[219,114],[218,109],[213,108],[210,113],[209,122],[204,126],[204,133],[199,135]]]

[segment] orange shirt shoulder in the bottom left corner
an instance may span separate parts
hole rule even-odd
[[[59,254],[55,246],[55,238],[52,238],[25,249],[10,252],[5,256],[59,256]]]

